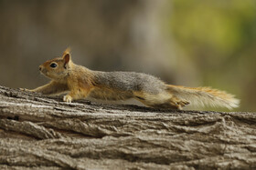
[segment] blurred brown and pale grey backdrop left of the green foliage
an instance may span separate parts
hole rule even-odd
[[[91,69],[133,70],[173,80],[178,74],[173,71],[176,55],[171,55],[170,38],[162,31],[168,4],[167,0],[3,1],[2,85],[34,88],[46,83],[37,77],[37,65],[61,55],[67,46],[75,63]],[[31,82],[31,77],[37,81]]]

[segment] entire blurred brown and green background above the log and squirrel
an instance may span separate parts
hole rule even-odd
[[[256,111],[254,0],[0,0],[0,85],[48,82],[38,65],[72,48],[76,64],[212,86]]]

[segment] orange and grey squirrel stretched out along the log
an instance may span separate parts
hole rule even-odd
[[[43,95],[64,95],[63,101],[88,96],[103,100],[135,98],[146,106],[181,110],[186,105],[238,107],[240,100],[224,91],[210,87],[167,85],[153,75],[134,72],[93,71],[71,60],[70,48],[63,55],[39,66],[40,73],[51,81],[28,90]]]

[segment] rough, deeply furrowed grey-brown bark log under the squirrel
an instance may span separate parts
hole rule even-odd
[[[256,114],[67,104],[0,86],[0,169],[254,169]]]

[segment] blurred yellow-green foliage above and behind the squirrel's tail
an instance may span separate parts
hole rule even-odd
[[[174,41],[197,66],[205,85],[237,94],[240,110],[255,111],[256,2],[173,0],[170,15]]]

